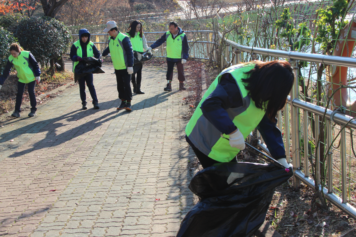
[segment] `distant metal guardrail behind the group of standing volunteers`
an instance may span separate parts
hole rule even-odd
[[[150,46],[152,43],[156,42],[166,31],[162,32],[145,32],[145,37],[147,40],[147,45]],[[214,31],[211,30],[201,30],[201,31],[184,31],[188,37],[189,45],[189,57],[194,59],[205,59],[209,60],[211,52],[211,46],[214,43]],[[78,40],[77,34],[73,34],[72,38],[75,42]],[[100,52],[108,46],[109,35],[108,34],[91,34],[90,40],[95,44]],[[73,43],[73,42],[72,42]],[[69,53],[69,52],[68,52]],[[167,56],[166,43],[152,50],[155,57],[165,58]]]

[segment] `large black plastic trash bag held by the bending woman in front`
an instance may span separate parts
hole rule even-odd
[[[199,171],[189,189],[200,201],[184,217],[177,237],[251,237],[265,221],[275,187],[292,168],[247,162]]]

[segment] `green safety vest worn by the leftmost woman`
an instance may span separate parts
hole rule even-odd
[[[28,57],[30,51],[21,51],[20,55],[17,58],[14,58],[12,55],[9,56],[9,61],[14,65],[17,71],[17,77],[19,82],[30,83],[35,81],[35,74],[33,73],[33,67],[28,62]]]

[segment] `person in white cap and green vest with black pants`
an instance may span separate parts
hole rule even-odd
[[[133,73],[133,51],[130,38],[117,29],[115,21],[106,22],[106,28],[103,31],[109,33],[110,39],[108,41],[109,46],[103,51],[100,58],[104,58],[109,53],[111,55],[116,75],[117,92],[119,92],[121,99],[121,104],[116,109],[131,111],[132,91],[130,81]]]

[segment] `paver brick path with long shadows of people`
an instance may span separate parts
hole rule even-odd
[[[82,110],[75,86],[36,117],[2,124],[0,236],[176,236],[193,204],[178,119],[189,92],[164,92],[166,72],[144,67],[146,94],[116,110],[114,69],[104,71],[94,75],[99,110],[91,98]]]

